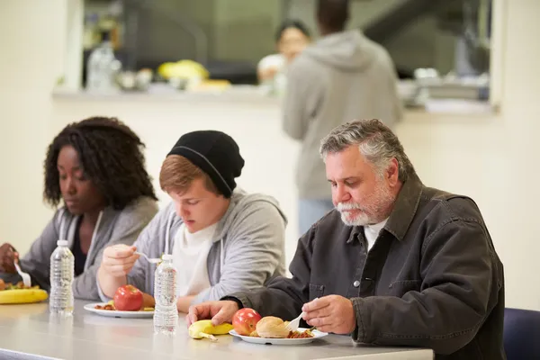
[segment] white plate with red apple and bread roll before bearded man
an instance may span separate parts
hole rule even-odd
[[[240,309],[232,318],[234,329],[230,330],[229,334],[248,343],[263,345],[309,344],[315,339],[329,335],[315,328],[298,328],[290,331],[286,328],[288,322],[275,316],[262,318],[253,309]]]

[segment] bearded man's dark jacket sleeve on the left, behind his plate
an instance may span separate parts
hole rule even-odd
[[[310,300],[312,237],[311,228],[296,247],[289,270],[293,278],[277,276],[266,287],[250,292],[232,293],[221,300],[233,300],[244,308],[258,311],[262,316],[277,316],[292,320],[302,312],[302,305]]]

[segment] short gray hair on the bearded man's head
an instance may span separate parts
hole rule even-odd
[[[341,152],[353,145],[358,146],[379,175],[383,174],[392,158],[398,162],[401,182],[407,181],[410,175],[416,175],[400,139],[377,119],[350,121],[331,130],[320,141],[320,157],[326,162],[328,154]]]

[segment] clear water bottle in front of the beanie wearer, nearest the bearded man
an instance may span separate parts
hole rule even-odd
[[[176,269],[173,266],[173,256],[165,254],[157,266],[154,278],[154,332],[174,335],[178,325],[178,310],[176,308]]]

